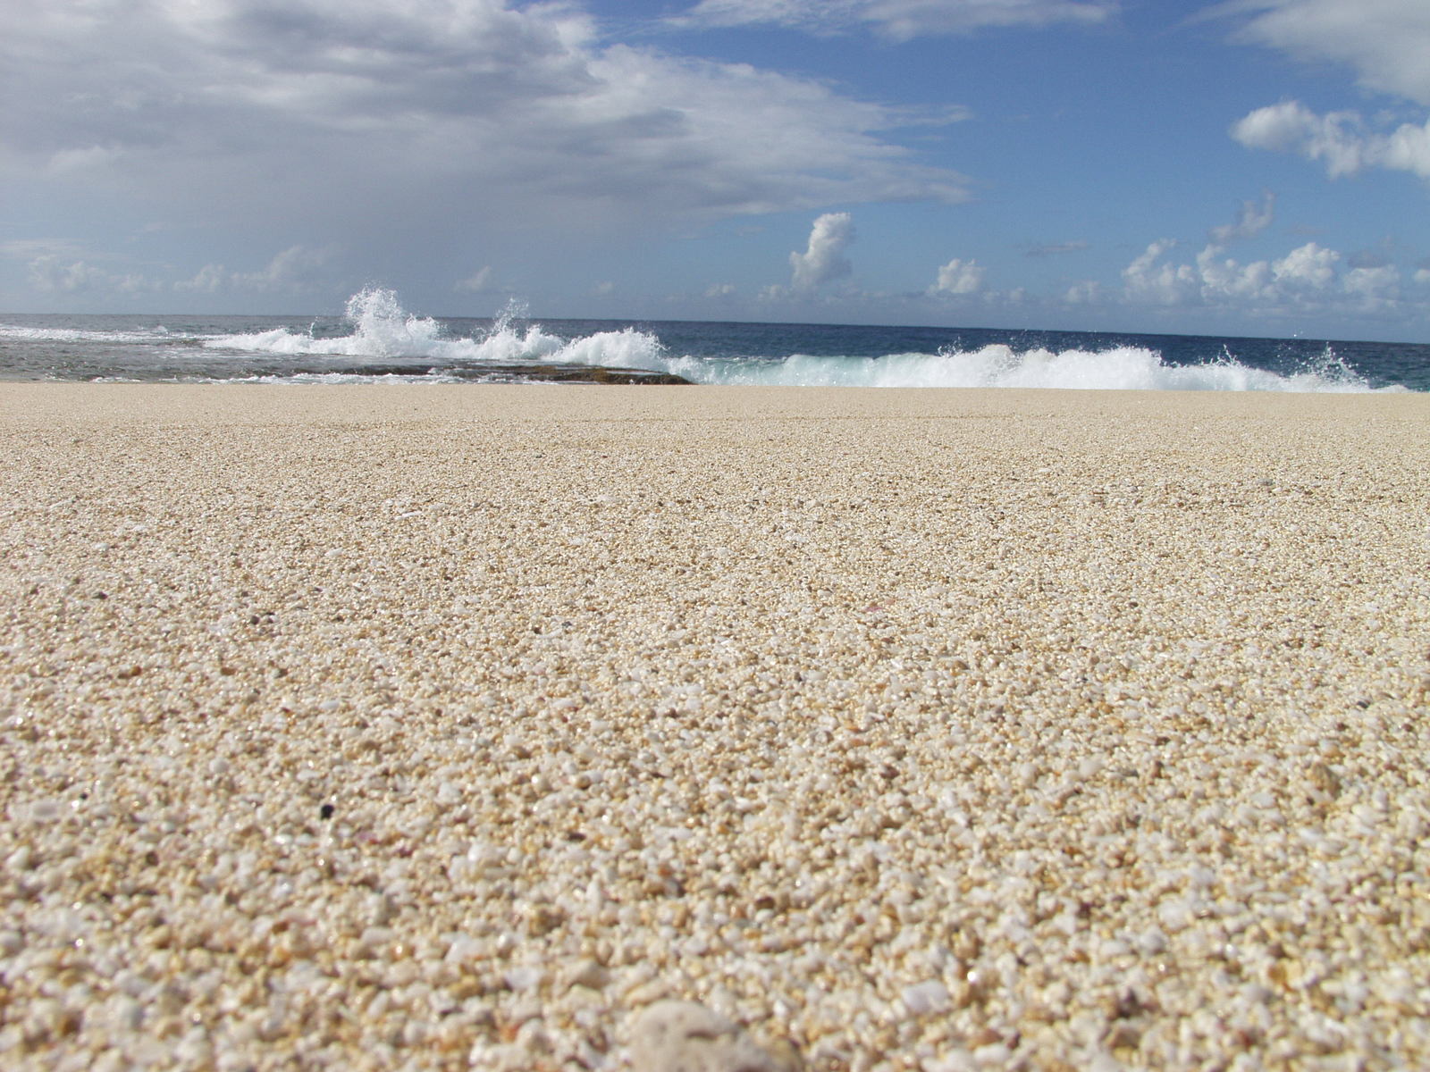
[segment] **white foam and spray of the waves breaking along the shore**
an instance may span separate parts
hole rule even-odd
[[[475,337],[452,337],[432,319],[408,313],[398,296],[369,289],[347,302],[349,334],[322,337],[286,329],[227,334],[204,346],[269,354],[310,354],[432,362],[445,369],[483,364],[578,364],[674,373],[694,383],[847,387],[1052,387],[1075,390],[1268,390],[1367,392],[1369,382],[1327,350],[1320,362],[1281,374],[1224,354],[1201,364],[1168,364],[1155,350],[1114,346],[1103,350],[1015,350],[1007,344],[975,350],[867,356],[692,357],[671,353],[661,340],[633,327],[576,339],[522,323],[509,307]]]

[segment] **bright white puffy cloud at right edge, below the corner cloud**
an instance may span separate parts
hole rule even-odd
[[[1237,120],[1231,137],[1248,149],[1300,153],[1320,160],[1334,179],[1367,167],[1411,172],[1430,180],[1430,120],[1390,133],[1370,130],[1354,111],[1318,116],[1297,100],[1257,109]]]

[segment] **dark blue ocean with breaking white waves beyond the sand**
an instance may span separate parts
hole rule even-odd
[[[345,316],[4,316],[0,379],[691,383],[1104,390],[1430,390],[1430,346],[1308,339],[409,313],[370,289]],[[569,374],[568,374],[569,373]]]

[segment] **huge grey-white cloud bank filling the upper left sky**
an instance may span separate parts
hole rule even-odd
[[[6,21],[11,160],[193,217],[392,237],[967,196],[888,137],[957,113],[608,44],[571,4],[53,0]]]

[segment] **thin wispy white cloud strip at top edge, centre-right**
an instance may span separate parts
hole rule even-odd
[[[994,26],[1100,23],[1113,0],[701,0],[682,26],[786,26],[811,33],[868,27],[894,40]]]

